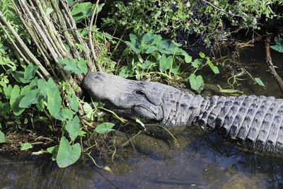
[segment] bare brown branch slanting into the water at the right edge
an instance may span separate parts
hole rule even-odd
[[[265,49],[266,49],[266,64],[268,69],[270,69],[271,74],[275,77],[275,80],[277,81],[277,83],[279,84],[281,91],[283,92],[283,80],[282,78],[277,74],[277,72],[275,71],[275,66],[272,64],[272,59],[271,59],[271,55],[270,55],[270,36],[268,36],[266,38],[265,41]]]

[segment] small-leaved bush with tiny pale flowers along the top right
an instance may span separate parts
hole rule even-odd
[[[187,30],[189,34],[202,36],[204,43],[210,45],[211,41],[223,42],[238,28],[259,29],[262,17],[268,23],[277,21],[280,18],[277,7],[283,4],[281,0],[209,2],[219,9],[198,0],[114,1],[109,16],[103,20],[103,28],[113,33],[122,28],[135,34],[155,30],[172,39],[177,38],[178,31]]]

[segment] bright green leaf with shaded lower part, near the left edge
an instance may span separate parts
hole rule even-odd
[[[18,105],[23,98],[23,96],[20,95],[20,87],[18,85],[13,86],[13,89],[11,91],[11,98],[10,98],[10,105],[11,109],[13,110],[13,114],[20,115],[23,113],[23,110],[25,108],[20,108]]]

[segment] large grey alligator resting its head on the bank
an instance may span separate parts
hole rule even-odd
[[[283,99],[267,96],[202,97],[153,81],[104,72],[83,79],[90,96],[125,118],[164,126],[192,124],[216,130],[256,151],[283,153]]]

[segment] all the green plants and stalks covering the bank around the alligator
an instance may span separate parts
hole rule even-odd
[[[0,0],[1,145],[50,153],[59,167],[74,164],[99,149],[99,136],[112,131],[113,122],[127,121],[84,98],[81,81],[88,71],[183,83],[202,93],[202,70],[221,73],[225,60],[216,57],[225,59],[221,47],[242,31],[249,40],[243,47],[272,35],[271,48],[283,52],[282,10],[279,0]],[[244,73],[264,87],[241,71],[222,92],[235,93]],[[33,137],[15,140],[15,133]]]

